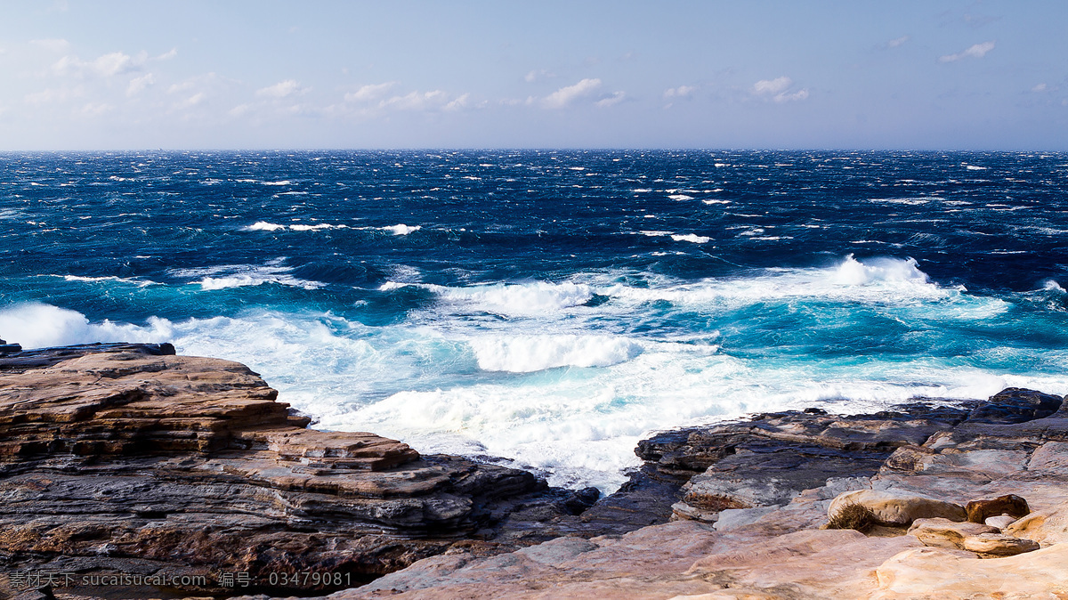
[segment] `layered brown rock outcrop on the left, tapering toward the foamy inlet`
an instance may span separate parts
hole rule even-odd
[[[326,587],[278,573],[330,572],[336,588],[456,543],[486,554],[548,539],[569,531],[548,522],[596,500],[373,433],[310,430],[276,396],[241,364],[170,345],[0,358],[0,560],[205,575],[191,589],[214,593],[222,572],[274,591]]]

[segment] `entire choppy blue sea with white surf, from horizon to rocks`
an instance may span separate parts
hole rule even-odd
[[[0,337],[610,490],[651,430],[1068,393],[1068,155],[0,154]]]

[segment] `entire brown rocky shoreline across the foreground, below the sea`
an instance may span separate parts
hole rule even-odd
[[[0,356],[0,598],[1068,595],[1059,396],[662,432],[600,499],[276,397],[167,344]]]

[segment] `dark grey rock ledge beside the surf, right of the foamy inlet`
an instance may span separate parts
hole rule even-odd
[[[967,414],[923,404],[853,416],[763,414],[658,435],[635,452],[663,474],[707,464],[681,487],[672,510],[674,518],[714,522],[721,510],[782,505],[831,478],[871,476],[895,448],[923,443]]]

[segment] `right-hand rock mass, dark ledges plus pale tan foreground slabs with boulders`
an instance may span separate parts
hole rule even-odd
[[[639,483],[691,475],[673,522],[488,558],[450,552],[331,598],[1068,597],[1058,396],[766,414],[658,435],[638,454]],[[827,528],[846,504],[874,516],[866,533]]]

